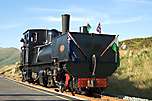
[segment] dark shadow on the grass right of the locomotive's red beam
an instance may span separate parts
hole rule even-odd
[[[105,93],[152,99],[152,88],[139,89],[135,87],[134,82],[129,81],[129,78],[119,80],[115,76],[109,78],[109,87],[105,90]]]

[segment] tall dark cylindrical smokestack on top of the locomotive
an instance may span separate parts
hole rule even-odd
[[[70,15],[62,15],[62,33],[69,32]]]

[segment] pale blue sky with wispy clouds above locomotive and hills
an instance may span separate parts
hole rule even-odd
[[[30,28],[61,31],[70,14],[70,31],[89,23],[90,32],[118,34],[119,40],[152,36],[152,0],[0,0],[0,47],[19,48]]]

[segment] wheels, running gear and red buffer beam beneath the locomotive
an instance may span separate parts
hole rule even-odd
[[[66,72],[65,62],[21,66],[22,81],[40,84],[45,87],[59,88],[61,92],[66,90],[84,93],[101,93],[108,87],[107,78],[79,78]],[[61,74],[61,71],[64,71]]]

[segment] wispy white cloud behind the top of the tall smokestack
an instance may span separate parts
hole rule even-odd
[[[65,13],[72,15],[70,19],[71,21],[74,22],[93,22],[95,20],[101,20],[102,18],[109,17],[109,15],[107,13],[104,13],[104,11],[94,10],[91,8],[84,8],[77,5],[70,6],[67,8],[58,8],[58,9],[33,7],[33,8],[28,8],[28,10],[34,12],[46,12],[46,13],[52,12],[53,16],[35,17],[36,19],[51,21],[51,22],[61,21],[61,17],[60,16],[56,17],[56,16],[57,14],[65,14]]]

